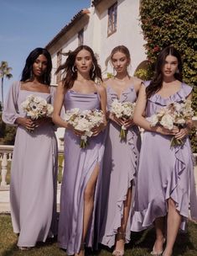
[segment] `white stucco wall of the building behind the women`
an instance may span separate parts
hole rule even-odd
[[[117,45],[126,45],[131,53],[132,68],[130,74],[133,75],[135,69],[140,62],[146,59],[145,50],[143,45],[143,35],[139,25],[139,0],[118,0],[117,1],[117,32],[107,37],[107,24],[108,24],[108,10],[103,13],[91,7],[89,23],[84,28],[84,44],[91,46],[93,51],[98,54],[98,62],[101,65],[102,71],[105,71],[105,61],[107,56],[110,55],[111,50]],[[78,46],[78,35],[70,38],[65,45],[62,46],[62,52],[68,52],[75,50]],[[60,49],[58,50],[60,51]],[[64,62],[66,56],[62,56],[62,62]],[[52,84],[56,83],[56,77],[54,72],[57,67],[57,52],[52,56],[53,72],[52,72]],[[110,64],[106,72],[112,72]],[[103,73],[106,77],[106,72]],[[64,136],[65,129],[59,128],[57,131],[57,137]],[[59,147],[60,140],[58,139]]]

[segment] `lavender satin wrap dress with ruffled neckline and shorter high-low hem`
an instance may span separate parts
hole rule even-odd
[[[148,86],[149,82],[145,83]],[[192,88],[182,83],[177,93],[163,99],[158,93],[148,99],[146,115],[171,102],[184,100]],[[172,198],[176,209],[183,216],[181,229],[185,229],[186,218],[197,219],[197,199],[194,186],[194,162],[189,138],[183,146],[170,148],[171,136],[145,131],[140,152],[137,175],[135,213],[132,231],[141,231],[153,224],[159,216],[168,212],[167,200]]]

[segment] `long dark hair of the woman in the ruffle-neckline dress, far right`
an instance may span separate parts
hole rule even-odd
[[[161,88],[162,88],[162,83],[163,83],[163,65],[165,63],[165,59],[168,55],[174,56],[178,60],[178,72],[174,74],[174,77],[182,82],[182,61],[181,61],[181,56],[179,54],[179,51],[177,51],[174,46],[170,45],[167,46],[161,51],[158,55],[158,59],[155,64],[155,71],[154,71],[154,76],[153,80],[149,84],[149,86],[146,88],[146,94],[147,94],[147,99],[150,98],[154,93],[157,93]]]

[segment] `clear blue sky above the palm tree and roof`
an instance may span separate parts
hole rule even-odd
[[[4,79],[4,99],[11,83],[20,80],[30,51],[47,45],[90,6],[91,0],[0,0],[0,62],[8,61],[13,68],[13,78]]]

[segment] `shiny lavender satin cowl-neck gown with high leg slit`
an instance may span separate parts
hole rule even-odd
[[[79,108],[100,109],[100,97],[98,93],[77,93],[69,90],[65,93],[65,110]],[[88,146],[80,148],[80,137],[68,130],[65,131],[65,169],[60,195],[60,221],[58,241],[60,248],[65,248],[68,255],[79,253],[83,232],[84,191],[86,184],[101,162],[104,152],[104,133],[88,138]],[[94,210],[91,216],[90,226],[86,235],[86,246],[92,247],[96,237],[96,201],[100,189],[99,173],[94,197]]]

